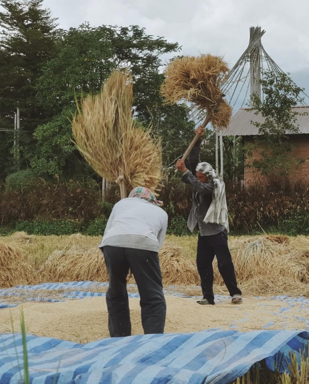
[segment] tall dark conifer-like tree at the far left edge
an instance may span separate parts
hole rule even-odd
[[[20,106],[19,137],[21,166],[25,166],[23,150],[31,146],[31,133],[48,113],[38,106],[36,82],[42,66],[57,51],[56,19],[42,8],[43,0],[2,0],[0,5],[0,123],[2,129],[12,129],[14,112]],[[15,170],[9,149],[13,146],[13,132],[1,133],[0,177],[5,168]],[[13,164],[13,166],[12,166]]]

